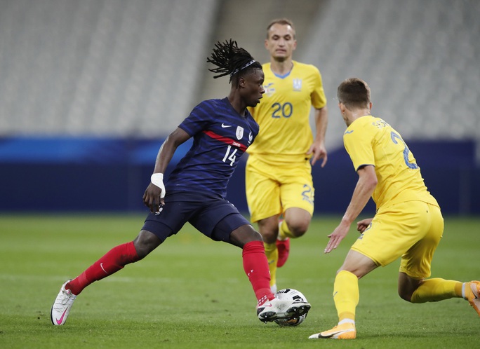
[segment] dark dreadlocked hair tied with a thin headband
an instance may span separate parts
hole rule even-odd
[[[218,73],[213,78],[230,75],[229,82],[232,82],[232,77],[241,71],[253,68],[262,69],[262,64],[256,62],[247,50],[239,48],[236,41],[232,39],[225,40],[223,43],[217,41],[207,62],[217,66],[217,68],[208,69],[213,73]]]

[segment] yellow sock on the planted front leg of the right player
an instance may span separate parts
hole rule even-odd
[[[359,299],[359,278],[349,271],[340,271],[333,283],[333,301],[339,322],[344,319],[355,320],[355,308]]]

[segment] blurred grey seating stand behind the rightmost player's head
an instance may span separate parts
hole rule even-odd
[[[328,1],[304,58],[332,102],[342,79],[368,81],[373,113],[404,138],[480,143],[479,16],[475,0]],[[328,132],[344,128],[331,118]]]

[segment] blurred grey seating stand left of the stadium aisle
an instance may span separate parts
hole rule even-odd
[[[0,135],[165,135],[192,109],[217,0],[7,0]]]

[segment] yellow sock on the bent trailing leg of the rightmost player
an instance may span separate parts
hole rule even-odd
[[[443,301],[462,296],[462,282],[444,280],[441,278],[427,279],[415,289],[412,294],[412,303]]]

